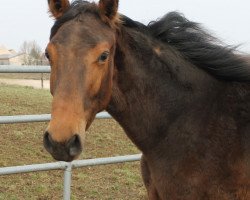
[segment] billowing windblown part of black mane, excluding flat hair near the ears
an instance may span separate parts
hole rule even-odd
[[[250,81],[250,65],[237,55],[235,47],[225,46],[177,12],[150,23],[151,34],[179,50],[191,63],[219,79]]]

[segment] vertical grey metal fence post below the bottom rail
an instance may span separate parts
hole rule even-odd
[[[63,200],[70,200],[72,164],[68,163],[64,170]]]

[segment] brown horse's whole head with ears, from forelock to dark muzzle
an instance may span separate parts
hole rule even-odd
[[[83,150],[85,131],[109,103],[112,90],[118,0],[99,4],[48,0],[55,18],[46,56],[51,65],[51,121],[44,146],[72,161]]]

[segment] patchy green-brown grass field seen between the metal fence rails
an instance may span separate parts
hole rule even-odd
[[[50,113],[47,90],[0,85],[0,115]],[[42,145],[47,123],[0,125],[0,167],[53,162]],[[114,120],[95,120],[80,157],[97,158],[139,151]],[[0,177],[0,200],[62,199],[63,171]],[[73,170],[71,199],[143,200],[139,162]]]

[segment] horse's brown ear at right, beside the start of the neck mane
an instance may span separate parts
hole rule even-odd
[[[100,0],[99,10],[105,19],[114,21],[117,18],[119,0]]]

